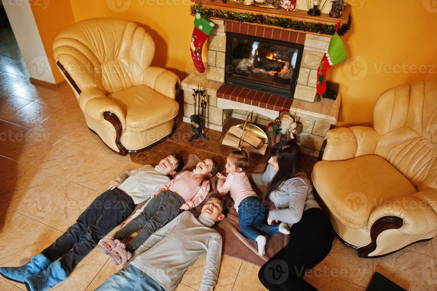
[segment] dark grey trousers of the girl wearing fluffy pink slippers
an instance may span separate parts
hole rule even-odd
[[[138,235],[126,245],[126,250],[132,252],[138,249],[158,228],[163,227],[183,210],[180,209],[185,200],[179,194],[165,190],[147,203],[144,210],[131,222],[126,224],[115,234],[114,238],[123,240],[142,228]]]

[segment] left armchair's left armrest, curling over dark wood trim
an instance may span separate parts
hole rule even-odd
[[[112,112],[120,119],[122,131],[126,130],[125,112],[114,101],[109,100],[100,89],[95,87],[83,89],[79,95],[79,106],[83,112],[97,121],[104,120],[104,112]]]

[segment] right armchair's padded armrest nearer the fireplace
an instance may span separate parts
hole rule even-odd
[[[338,127],[326,133],[323,160],[343,161],[374,154],[379,135],[371,127]]]

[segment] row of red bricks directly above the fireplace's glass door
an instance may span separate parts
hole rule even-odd
[[[306,36],[306,33],[303,32],[291,32],[289,30],[269,28],[258,25],[249,25],[245,23],[237,23],[231,21],[225,21],[225,31],[263,37],[265,39],[276,39],[283,42],[293,42],[300,45],[305,44]]]

